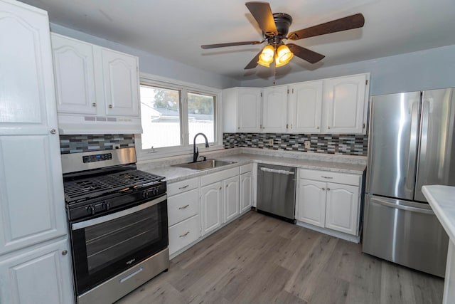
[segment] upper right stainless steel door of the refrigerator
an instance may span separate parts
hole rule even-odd
[[[424,185],[455,186],[454,93],[453,88],[423,93],[416,201],[427,201]]]

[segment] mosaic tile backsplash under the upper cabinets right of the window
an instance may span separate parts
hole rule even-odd
[[[269,145],[273,140],[273,145]],[[306,148],[304,143],[310,142]],[[223,133],[225,148],[254,147],[326,154],[367,156],[368,135]]]

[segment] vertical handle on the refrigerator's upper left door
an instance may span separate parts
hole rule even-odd
[[[417,157],[417,138],[419,135],[419,102],[412,102],[410,148],[407,155],[406,188],[414,191],[415,159]],[[414,161],[414,162],[413,162]],[[412,179],[409,177],[413,177]]]

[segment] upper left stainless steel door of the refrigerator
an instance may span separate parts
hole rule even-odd
[[[368,145],[369,194],[414,198],[420,92],[373,96]]]

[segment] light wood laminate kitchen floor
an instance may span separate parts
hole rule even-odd
[[[444,280],[362,253],[360,244],[258,214],[171,260],[126,303],[441,303]]]

